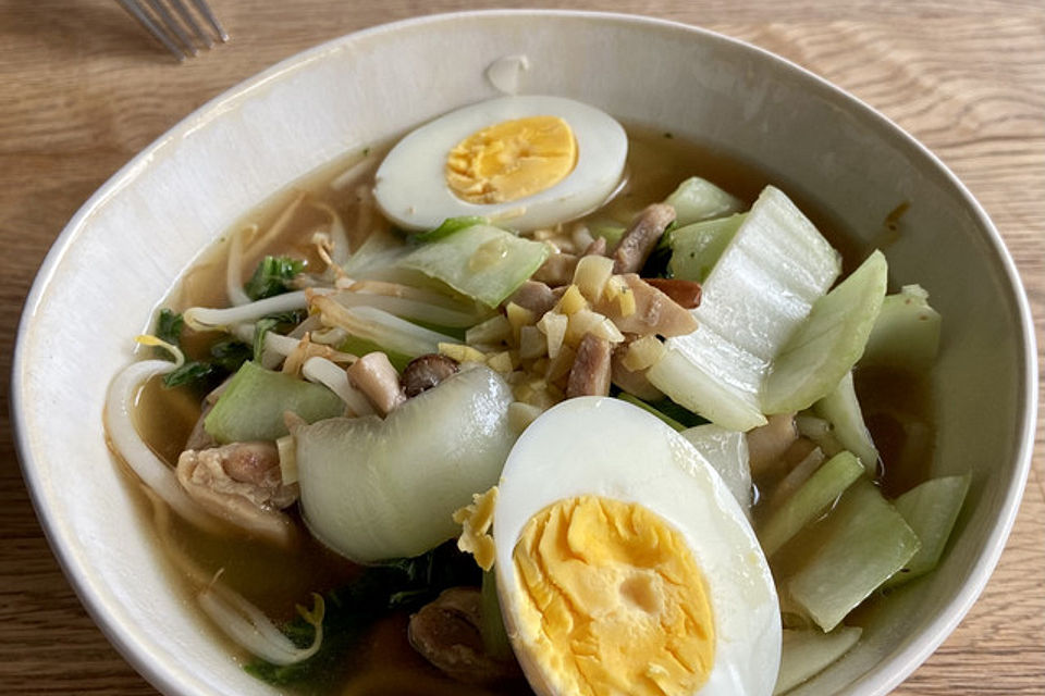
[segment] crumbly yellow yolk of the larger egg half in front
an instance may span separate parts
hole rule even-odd
[[[524,648],[562,694],[692,694],[714,661],[703,575],[660,515],[595,496],[527,523],[513,559]]]

